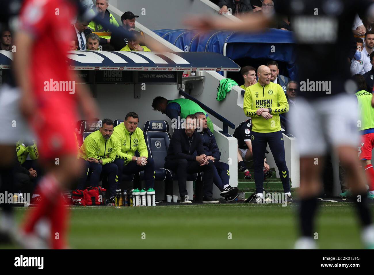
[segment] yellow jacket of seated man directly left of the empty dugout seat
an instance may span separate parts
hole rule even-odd
[[[125,123],[121,123],[114,127],[112,136],[120,141],[117,158],[124,159],[125,165],[131,162],[136,150],[138,150],[140,156],[148,158],[148,148],[145,144],[143,131],[140,128],[136,128],[131,134],[127,131]]]

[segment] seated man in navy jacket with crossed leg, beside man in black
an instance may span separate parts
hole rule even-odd
[[[225,162],[220,162],[221,152],[218,149],[217,141],[213,133],[208,129],[208,123],[206,123],[206,116],[202,112],[195,113],[197,117],[197,128],[198,134],[203,138],[203,149],[204,154],[208,159],[213,161],[213,183],[220,189],[221,196],[226,199],[226,202],[234,201],[239,195],[239,189],[232,187],[229,184],[230,171],[229,165]]]

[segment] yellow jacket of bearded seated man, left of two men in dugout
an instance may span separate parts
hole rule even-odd
[[[87,160],[88,158],[102,159],[102,165],[113,162],[117,156],[119,140],[113,137],[108,140],[102,136],[100,130],[97,130],[86,137],[80,147],[80,157]]]

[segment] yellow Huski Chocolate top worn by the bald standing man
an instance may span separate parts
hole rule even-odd
[[[273,117],[264,119],[262,116],[257,116],[256,111],[260,108],[271,108]],[[279,84],[270,82],[263,87],[257,82],[245,89],[243,110],[246,116],[252,118],[252,131],[254,132],[281,131],[279,114],[288,112],[288,109],[286,95]]]

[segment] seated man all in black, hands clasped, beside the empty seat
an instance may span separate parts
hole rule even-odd
[[[178,178],[181,204],[190,204],[187,194],[187,173],[194,174],[204,172],[203,176],[203,203],[219,203],[213,196],[213,161],[208,159],[204,153],[203,139],[195,130],[197,128],[197,117],[188,114],[184,128],[174,132],[168,153],[165,158],[165,168],[175,172]],[[197,152],[197,156],[193,155]]]

